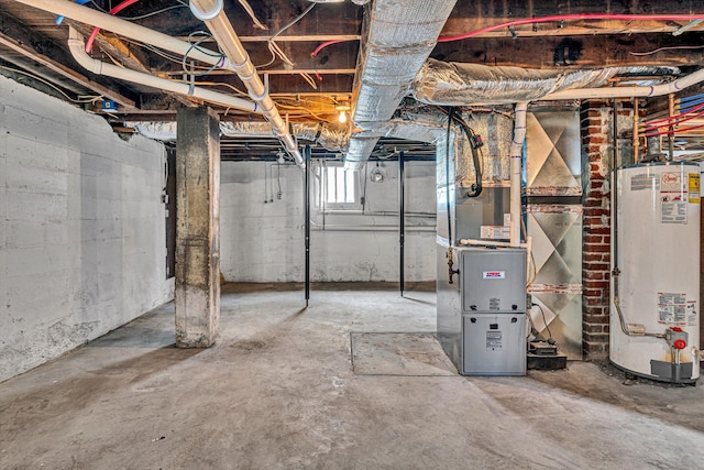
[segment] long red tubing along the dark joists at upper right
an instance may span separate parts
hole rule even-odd
[[[692,21],[703,20],[704,14],[618,14],[618,13],[570,13],[570,14],[552,14],[539,18],[524,18],[520,20],[506,21],[504,23],[494,24],[492,26],[482,28],[464,34],[454,36],[438,37],[439,43],[448,43],[452,41],[461,41],[468,37],[479,36],[481,34],[491,33],[493,31],[506,28],[518,26],[521,24],[536,24],[548,22],[563,22],[569,20],[622,20],[622,21]]]

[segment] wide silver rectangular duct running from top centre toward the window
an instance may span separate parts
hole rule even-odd
[[[366,10],[362,68],[355,80],[354,123],[370,129],[388,121],[408,94],[436,45],[457,0],[376,0]],[[360,168],[376,145],[373,136],[353,135],[345,168]]]

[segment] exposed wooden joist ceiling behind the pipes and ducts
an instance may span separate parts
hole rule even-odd
[[[408,3],[378,1],[402,8]],[[228,0],[224,9],[252,63],[265,77],[280,114],[290,122],[324,123],[349,134],[353,123],[340,124],[338,118],[341,111],[354,116],[376,2]],[[109,11],[118,6],[118,1],[95,0],[82,8]],[[439,34],[440,42],[433,39],[428,47],[430,57],[442,62],[551,70],[676,66],[686,74],[704,61],[704,23],[691,21],[697,14],[704,18],[701,2],[460,0],[450,8],[449,19]],[[208,29],[194,17],[185,1],[136,1],[117,15],[191,42],[194,47],[216,51],[215,42],[204,33]],[[660,18],[636,18],[642,15]],[[541,20],[547,17],[552,20]],[[424,25],[424,18],[407,26],[394,25],[393,19],[385,21],[384,28],[398,31],[431,28]],[[117,130],[125,131],[125,123],[138,121],[174,121],[178,107],[204,103],[193,97],[97,76],[84,69],[68,52],[68,26],[88,36],[91,25],[69,19],[59,25],[55,14],[14,0],[0,0],[0,73],[102,114]],[[190,61],[184,63],[173,53],[138,43],[120,32],[100,31],[91,55],[121,67],[173,80],[191,80],[208,89],[249,99],[242,81],[231,70],[210,69],[209,65]],[[607,86],[619,86],[623,80],[616,76]],[[260,114],[210,106],[220,112],[223,121],[263,121]],[[427,144],[398,139],[382,140],[375,149],[384,155],[388,149],[430,154]],[[278,152],[276,141],[261,136],[242,135],[223,141],[226,157]]]

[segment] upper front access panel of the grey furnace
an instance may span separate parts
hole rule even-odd
[[[461,251],[462,313],[526,311],[526,251],[465,248]]]

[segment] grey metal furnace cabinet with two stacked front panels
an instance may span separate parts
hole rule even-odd
[[[463,375],[525,375],[526,250],[438,247],[438,338]]]

